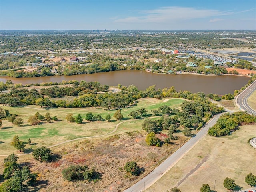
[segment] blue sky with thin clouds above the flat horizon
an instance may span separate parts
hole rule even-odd
[[[0,0],[0,30],[256,30],[256,0]]]

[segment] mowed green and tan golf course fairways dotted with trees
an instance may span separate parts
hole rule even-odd
[[[183,102],[183,99],[179,98],[143,98],[139,99],[134,106],[122,109],[121,113],[124,116],[124,120],[129,120],[131,117],[128,114],[132,110],[137,110],[139,108],[146,108],[149,114],[151,110],[157,110],[160,106],[168,105],[171,108],[178,108]],[[17,114],[24,119],[24,124],[20,127],[13,125],[8,120],[3,120],[2,129],[0,129],[0,154],[10,154],[12,152],[18,152],[13,146],[10,145],[14,135],[18,135],[19,139],[27,143],[28,138],[31,139],[32,145],[26,144],[25,152],[31,152],[29,148],[35,149],[40,146],[51,146],[66,140],[71,140],[74,138],[81,138],[86,136],[100,136],[107,134],[114,130],[115,126],[121,122],[113,118],[113,114],[116,110],[103,110],[102,108],[53,108],[53,109],[44,109],[39,106],[26,106],[26,107],[7,107],[3,108],[10,111],[11,114]],[[39,112],[41,115],[45,115],[47,112],[50,113],[50,116],[57,116],[60,121],[48,123],[43,121],[40,125],[31,126],[27,121],[29,116],[32,116]],[[86,113],[92,112],[94,115],[100,114],[102,118],[105,118],[107,114],[110,114],[112,119],[110,122],[104,121],[94,121],[87,122],[84,120]],[[80,114],[83,118],[82,124],[70,123],[65,117],[68,113],[72,113],[74,117]],[[135,120],[136,121],[136,120]],[[142,120],[139,120],[138,124],[136,122],[136,129],[141,129]],[[135,124],[134,124],[135,126]],[[118,128],[118,133],[133,131],[134,126],[126,130],[120,130]],[[116,133],[113,133],[116,134]]]

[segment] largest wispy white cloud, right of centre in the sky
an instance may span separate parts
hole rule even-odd
[[[131,22],[153,22],[165,23],[180,20],[190,20],[207,18],[212,16],[222,16],[234,14],[231,11],[219,11],[214,9],[196,9],[191,7],[162,7],[154,10],[142,10],[139,12],[142,16],[131,16],[115,20],[118,23]]]

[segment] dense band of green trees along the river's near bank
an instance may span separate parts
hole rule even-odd
[[[6,86],[6,84],[4,84]],[[7,86],[6,86],[7,87]],[[186,98],[189,100],[196,100],[198,97],[211,98],[220,100],[215,94],[204,94],[202,92],[191,93],[189,91],[176,92],[175,88],[164,88],[163,90],[156,90],[155,86],[149,86],[146,90],[138,90],[134,85],[128,87],[118,85],[120,92],[112,93],[108,91],[109,86],[100,85],[98,82],[77,82],[75,81],[71,86],[50,88],[43,88],[40,92],[36,89],[17,89],[12,87],[10,92],[0,95],[0,103],[6,106],[20,106],[20,105],[38,105],[41,107],[97,107],[101,106],[107,110],[120,109],[131,105],[136,99],[146,97],[176,97]],[[7,88],[6,88],[7,89]],[[44,97],[44,96],[48,97]],[[77,96],[71,101],[56,100],[52,101],[50,98],[62,96]],[[49,98],[50,97],[50,98]],[[203,106],[197,106],[197,110],[204,110]],[[202,115],[201,115],[202,116]]]

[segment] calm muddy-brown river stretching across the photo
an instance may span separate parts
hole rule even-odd
[[[245,76],[206,76],[206,75],[170,75],[170,74],[153,74],[145,71],[112,71],[95,74],[82,74],[73,76],[49,76],[49,77],[34,77],[34,78],[11,78],[0,77],[0,81],[6,82],[12,80],[13,83],[30,84],[41,82],[62,82],[63,80],[84,80],[86,82],[98,81],[100,84],[109,86],[129,86],[134,84],[140,90],[145,90],[148,86],[156,85],[158,88],[170,88],[175,86],[176,91],[188,90],[192,93],[204,92],[224,95],[234,92],[247,84],[250,78]]]

